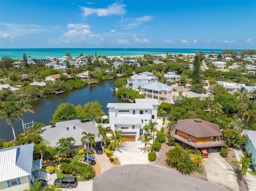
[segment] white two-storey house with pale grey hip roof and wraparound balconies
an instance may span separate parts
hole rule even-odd
[[[144,94],[146,98],[156,98],[160,102],[171,102],[173,87],[168,86],[161,82],[154,82],[148,85],[142,86],[140,94]]]

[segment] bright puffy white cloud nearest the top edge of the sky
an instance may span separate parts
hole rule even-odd
[[[118,2],[109,5],[107,8],[88,8],[81,7],[83,10],[83,16],[89,16],[91,14],[96,14],[99,17],[110,16],[110,15],[125,15],[126,14],[126,4],[119,4]]]

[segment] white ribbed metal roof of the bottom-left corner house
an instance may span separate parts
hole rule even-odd
[[[0,182],[31,174],[34,143],[0,149]]]

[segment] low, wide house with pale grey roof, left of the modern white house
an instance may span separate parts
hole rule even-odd
[[[83,148],[81,138],[82,132],[95,134],[95,141],[102,145],[103,137],[98,137],[98,129],[93,122],[81,122],[79,119],[56,122],[56,127],[46,128],[42,131],[42,138],[50,143],[50,146],[56,147],[61,138],[73,137],[76,142],[72,149]]]

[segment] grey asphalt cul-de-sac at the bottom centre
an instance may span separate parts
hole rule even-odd
[[[93,181],[93,191],[224,191],[220,185],[182,175],[155,165],[122,165],[101,174]]]

